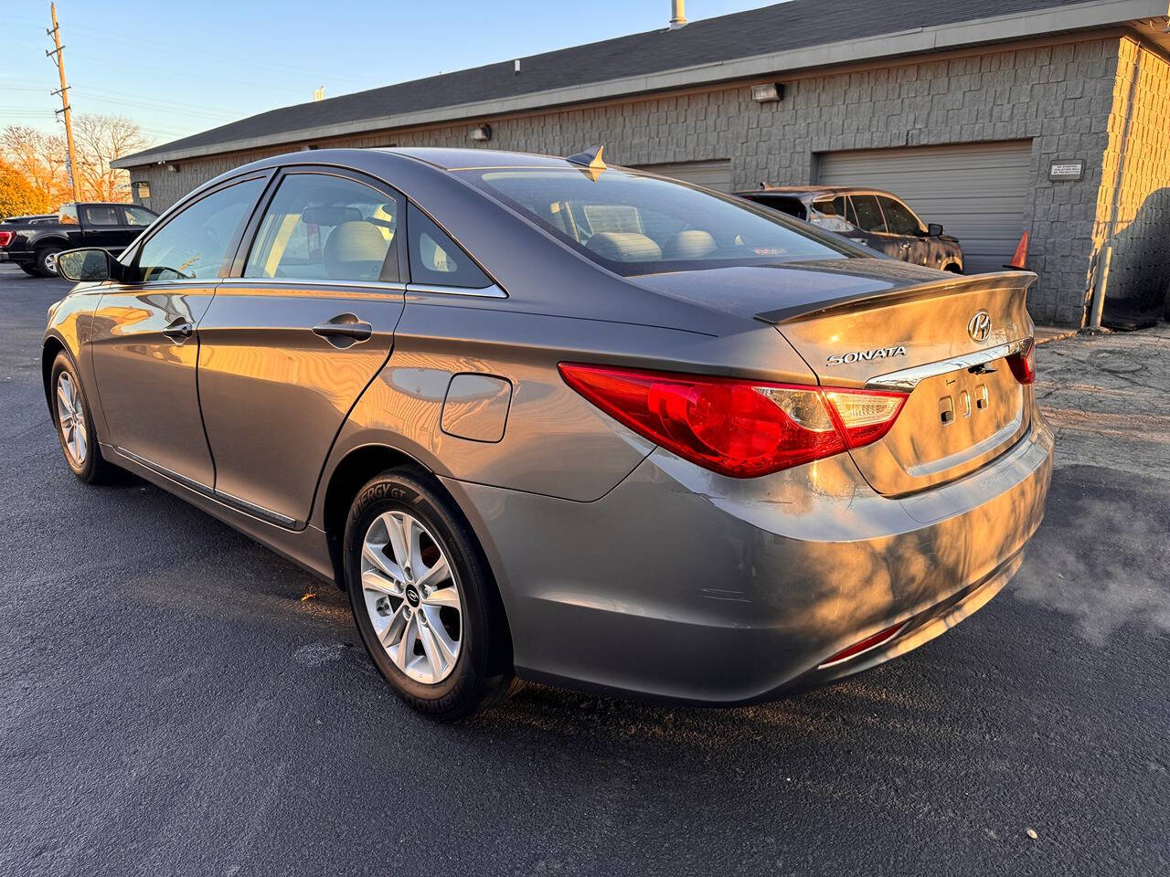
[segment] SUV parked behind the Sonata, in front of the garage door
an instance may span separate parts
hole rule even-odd
[[[741,198],[783,210],[903,262],[963,274],[963,247],[936,222],[923,225],[897,195],[839,186],[768,186]]]

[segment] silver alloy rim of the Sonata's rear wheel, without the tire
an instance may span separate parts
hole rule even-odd
[[[394,665],[427,685],[455,669],[463,636],[459,582],[440,541],[405,511],[379,515],[362,541],[362,593]]]

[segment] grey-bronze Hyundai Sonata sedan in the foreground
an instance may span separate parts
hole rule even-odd
[[[433,716],[514,675],[823,684],[985,603],[1044,513],[1034,275],[878,258],[599,153],[269,158],[58,264],[74,474],[337,582]]]

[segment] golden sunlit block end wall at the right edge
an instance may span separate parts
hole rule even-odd
[[[1164,312],[1170,285],[1170,63],[1122,40],[1093,237],[1113,261],[1106,317]]]

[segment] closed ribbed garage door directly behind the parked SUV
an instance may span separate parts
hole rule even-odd
[[[999,271],[1024,233],[1032,141],[825,152],[817,182],[893,192],[963,244],[966,274]]]

